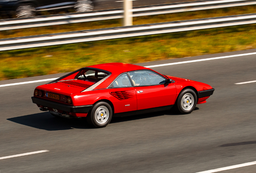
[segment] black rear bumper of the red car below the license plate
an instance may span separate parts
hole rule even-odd
[[[37,105],[41,105],[47,108],[58,109],[58,110],[66,111],[69,113],[89,113],[89,111],[91,110],[91,107],[93,107],[93,105],[70,106],[70,105],[65,105],[61,103],[56,103],[53,101],[44,100],[37,97],[31,97],[31,99],[32,99],[32,102]]]

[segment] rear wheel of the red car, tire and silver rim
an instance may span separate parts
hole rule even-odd
[[[89,115],[87,116],[87,121],[90,125],[101,128],[106,127],[112,118],[112,108],[106,102],[98,102],[93,105]]]

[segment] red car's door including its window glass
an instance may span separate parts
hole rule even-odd
[[[129,72],[137,97],[137,110],[173,105],[176,87],[151,70]],[[161,110],[161,109],[159,109]]]

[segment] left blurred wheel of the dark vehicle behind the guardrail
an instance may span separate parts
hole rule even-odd
[[[16,9],[16,17],[32,17],[35,16],[35,5],[33,4],[21,4]]]

